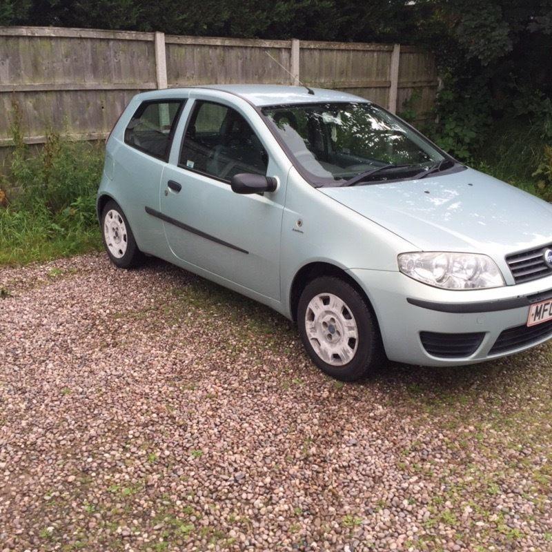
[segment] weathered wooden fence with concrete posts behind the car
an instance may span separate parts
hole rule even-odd
[[[0,27],[0,162],[12,146],[14,102],[28,144],[43,143],[48,130],[93,140],[108,135],[141,90],[299,80],[352,92],[393,112],[416,92],[411,107],[421,119],[437,89],[433,56],[398,44]]]

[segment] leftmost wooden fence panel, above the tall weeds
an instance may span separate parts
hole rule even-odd
[[[0,110],[7,115],[0,146],[10,143],[14,101],[30,144],[51,129],[94,139],[109,132],[132,95],[152,88],[153,33],[0,30]]]

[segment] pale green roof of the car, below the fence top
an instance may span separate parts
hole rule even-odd
[[[206,84],[194,86],[192,88],[167,88],[165,90],[155,90],[155,92],[146,92],[148,98],[157,99],[166,96],[172,96],[178,90],[219,90],[242,97],[254,106],[277,106],[288,103],[319,103],[319,102],[365,102],[368,100],[341,92],[339,90],[327,90],[326,88],[311,88],[314,94],[308,92],[305,86],[282,86],[277,84]]]

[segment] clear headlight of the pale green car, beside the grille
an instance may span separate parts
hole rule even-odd
[[[445,289],[482,289],[504,286],[495,262],[472,253],[402,253],[399,270],[411,278]]]

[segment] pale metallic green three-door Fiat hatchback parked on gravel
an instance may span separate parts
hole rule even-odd
[[[365,99],[146,92],[106,150],[97,208],[115,265],[155,255],[274,308],[334,377],[552,336],[552,207]]]

